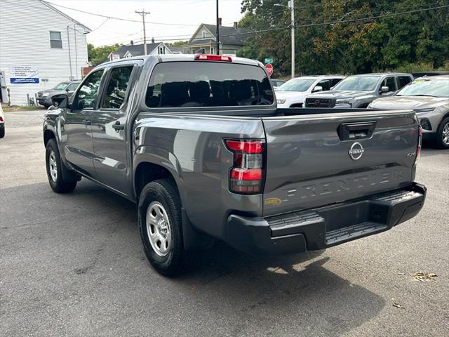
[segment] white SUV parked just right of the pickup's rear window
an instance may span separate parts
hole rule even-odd
[[[316,91],[328,91],[344,76],[303,76],[286,81],[276,90],[278,107],[303,107],[304,98]]]

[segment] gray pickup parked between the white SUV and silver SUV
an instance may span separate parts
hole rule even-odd
[[[368,107],[376,98],[391,96],[413,81],[411,74],[386,73],[349,76],[326,93],[312,93],[306,107]]]

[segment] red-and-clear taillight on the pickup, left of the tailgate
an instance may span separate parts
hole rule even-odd
[[[229,190],[241,194],[262,192],[264,180],[262,140],[225,140],[225,145],[234,154],[229,171]]]

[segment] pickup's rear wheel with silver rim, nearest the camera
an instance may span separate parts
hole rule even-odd
[[[154,180],[143,187],[138,218],[145,256],[152,267],[165,276],[186,272],[193,257],[184,249],[181,201],[170,180]]]

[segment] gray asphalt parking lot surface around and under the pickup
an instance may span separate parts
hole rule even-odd
[[[166,279],[134,204],[51,191],[43,112],[6,113],[0,140],[0,336],[447,336],[449,150],[424,147],[424,209],[389,232],[263,260],[216,244]]]

